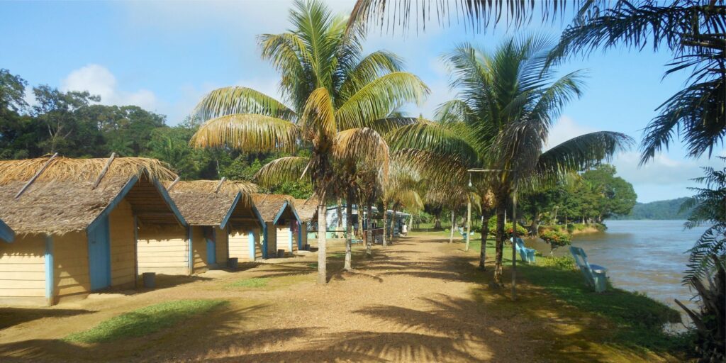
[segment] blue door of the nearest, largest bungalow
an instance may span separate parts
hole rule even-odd
[[[108,216],[103,216],[88,231],[89,273],[91,291],[111,285],[111,246],[108,232]]]

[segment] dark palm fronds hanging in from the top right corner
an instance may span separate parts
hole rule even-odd
[[[725,0],[358,0],[348,29],[380,26],[393,31],[398,25],[403,31],[425,30],[432,13],[439,25],[450,25],[453,14],[458,17],[454,24],[462,22],[474,31],[499,21],[518,28],[534,14],[543,23],[573,17],[552,60],[616,46],[667,47],[674,59],[666,76],[688,71],[689,81],[658,107],[660,115],[646,126],[640,163],[667,150],[676,136],[687,145],[689,156],[710,157],[726,136]]]

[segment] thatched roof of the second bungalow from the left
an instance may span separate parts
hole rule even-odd
[[[189,224],[219,226],[237,204],[252,208],[250,191],[257,189],[255,184],[247,181],[225,180],[221,185],[219,183],[219,180],[178,181],[168,192]],[[166,181],[164,184],[168,188],[172,183]],[[235,204],[240,193],[240,200]]]

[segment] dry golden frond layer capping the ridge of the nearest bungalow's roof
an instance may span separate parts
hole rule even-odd
[[[48,158],[0,161],[0,185],[28,181],[43,168]],[[94,181],[107,165],[107,158],[75,159],[57,157],[50,160],[37,181]],[[151,158],[115,158],[104,179],[131,178],[146,173],[152,179],[174,180],[176,174],[166,163]]]

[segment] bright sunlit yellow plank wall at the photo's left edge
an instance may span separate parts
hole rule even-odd
[[[45,305],[45,236],[0,242],[0,303]]]

